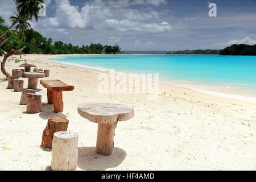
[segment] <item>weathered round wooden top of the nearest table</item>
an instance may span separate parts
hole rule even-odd
[[[78,113],[91,122],[112,124],[134,117],[133,107],[110,103],[86,103],[77,107]]]

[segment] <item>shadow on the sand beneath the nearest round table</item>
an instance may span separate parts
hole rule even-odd
[[[103,171],[119,166],[125,160],[126,152],[122,148],[114,147],[110,156],[96,153],[96,147],[79,147],[77,166],[83,170]]]

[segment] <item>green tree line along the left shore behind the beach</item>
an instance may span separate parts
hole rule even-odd
[[[24,53],[44,53],[44,54],[116,54],[121,53],[121,47],[118,45],[109,46],[102,44],[90,44],[88,46],[83,45],[82,47],[73,46],[71,43],[64,43],[61,41],[53,42],[51,38],[46,38],[39,32],[32,28],[23,31],[23,35],[19,35],[16,30],[9,30],[5,25],[5,20],[0,16],[0,34],[6,32],[3,38],[9,38],[5,44],[2,45],[3,50],[9,50],[11,43],[13,43],[14,49],[24,48]],[[1,53],[0,53],[1,54]]]

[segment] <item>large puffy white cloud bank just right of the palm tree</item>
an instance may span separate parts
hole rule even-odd
[[[156,21],[159,21],[159,14],[156,11],[127,8],[115,9],[99,0],[86,4],[79,11],[68,0],[55,0],[55,2],[55,16],[43,18],[41,20],[42,23],[36,24],[36,26],[44,28],[82,28],[146,32],[165,32],[171,30],[171,26],[167,22],[156,23]],[[128,3],[128,1],[126,2]]]

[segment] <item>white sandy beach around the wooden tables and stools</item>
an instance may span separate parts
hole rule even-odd
[[[68,131],[79,134],[77,170],[256,170],[256,103],[164,84],[156,100],[147,94],[99,94],[98,71],[42,60],[52,57],[23,56],[28,64],[50,69],[50,77],[42,80],[60,79],[75,86],[63,92],[63,113],[53,113],[47,90],[38,84],[43,111],[27,114],[26,106],[19,105],[21,92],[6,89],[0,75],[0,170],[50,169],[51,150],[40,144],[52,115],[67,117]],[[7,61],[6,69],[11,72],[19,64]],[[22,79],[26,88],[27,78]],[[85,102],[134,107],[133,119],[118,122],[110,156],[95,152],[97,124],[77,113]]]

